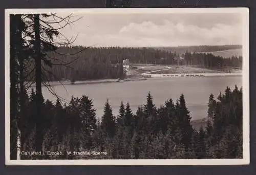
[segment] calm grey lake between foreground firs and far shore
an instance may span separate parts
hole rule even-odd
[[[241,88],[242,76],[148,78],[143,81],[55,85],[54,91],[68,102],[72,95],[89,96],[93,100],[97,117],[102,116],[106,99],[109,99],[113,113],[118,115],[121,101],[129,102],[135,113],[139,105],[145,104],[148,92],[153,96],[156,106],[164,104],[168,98],[176,101],[183,93],[190,116],[196,120],[207,116],[210,93],[217,97],[224,93],[227,86],[233,89],[236,84]],[[42,92],[45,99],[56,101],[56,97],[45,87]]]

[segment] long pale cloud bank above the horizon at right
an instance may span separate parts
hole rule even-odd
[[[196,25],[183,23],[172,23],[163,20],[162,25],[156,25],[152,21],[144,21],[136,24],[130,23],[123,26],[119,36],[140,38],[146,43],[153,44],[155,41],[162,41],[160,45],[217,45],[217,44],[241,44],[241,27],[225,24],[216,24],[212,28],[202,28]]]

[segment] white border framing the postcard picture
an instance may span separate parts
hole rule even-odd
[[[243,159],[140,160],[10,160],[10,29],[9,15],[19,13],[241,13],[243,16]],[[5,10],[5,143],[6,165],[241,165],[249,164],[249,9],[248,8],[129,8],[129,9],[6,9]]]

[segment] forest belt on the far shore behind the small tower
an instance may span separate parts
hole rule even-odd
[[[84,50],[75,55],[79,50]],[[58,53],[62,53],[61,55]],[[47,57],[53,60],[50,73],[46,73],[47,80],[59,81],[122,78],[124,76],[123,59],[132,63],[151,63],[162,65],[191,65],[207,69],[222,69],[225,67],[242,68],[242,57],[232,56],[223,58],[213,54],[190,53],[176,54],[153,48],[86,48],[82,46],[60,47],[56,52],[48,52]],[[184,58],[184,59],[183,59]],[[69,67],[62,66],[61,62],[71,62]],[[73,61],[74,60],[74,61]],[[47,68],[46,68],[47,69]],[[47,69],[49,72],[49,68]]]

